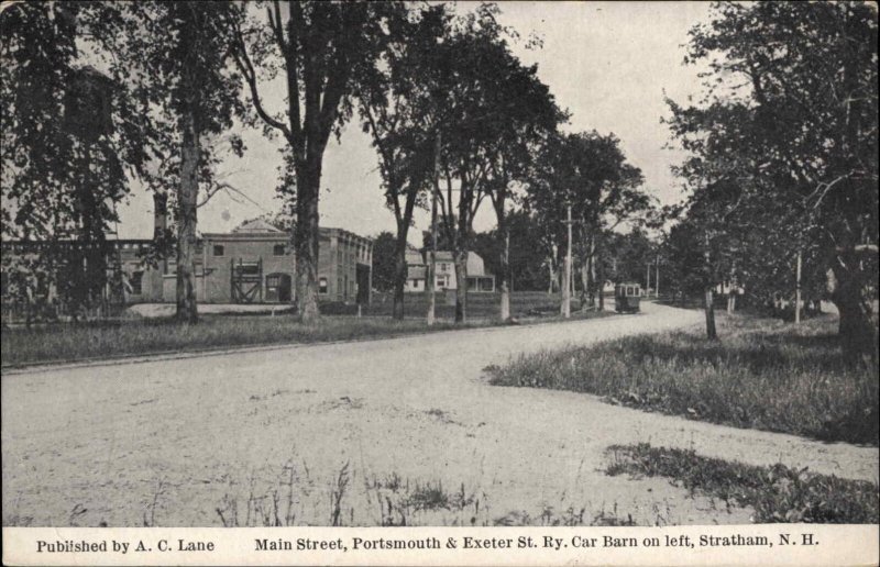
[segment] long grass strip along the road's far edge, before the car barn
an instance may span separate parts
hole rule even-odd
[[[579,313],[576,319],[607,313]],[[547,318],[535,322],[558,321]],[[531,322],[531,321],[530,321]],[[0,336],[2,366],[107,359],[160,353],[186,353],[224,347],[356,341],[454,329],[502,325],[498,320],[474,320],[464,324],[439,320],[428,326],[424,320],[324,315],[309,324],[290,313],[209,314],[196,325],[169,318],[132,318],[111,322],[53,324],[3,329]]]

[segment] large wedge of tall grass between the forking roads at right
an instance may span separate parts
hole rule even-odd
[[[878,377],[844,359],[836,321],[724,316],[719,342],[700,329],[637,335],[485,370],[496,386],[587,392],[701,421],[877,445]]]

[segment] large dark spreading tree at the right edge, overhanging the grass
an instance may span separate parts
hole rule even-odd
[[[715,4],[691,32],[692,62],[710,67],[707,96],[673,104],[673,134],[708,170],[738,170],[744,200],[823,251],[842,343],[877,364],[877,10]]]

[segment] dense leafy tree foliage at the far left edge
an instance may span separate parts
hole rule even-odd
[[[100,2],[22,2],[0,13],[3,237],[47,243],[3,258],[19,263],[12,288],[29,304],[51,288],[73,313],[101,299],[105,233],[144,162],[131,90],[86,65],[107,55],[117,12]],[[70,240],[79,245],[61,245]]]

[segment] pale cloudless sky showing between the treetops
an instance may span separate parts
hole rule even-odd
[[[476,4],[458,2],[463,13]],[[563,130],[614,133],[629,162],[641,168],[646,190],[661,203],[681,199],[680,184],[670,167],[682,154],[664,149],[670,141],[661,118],[669,114],[664,96],[685,101],[700,92],[698,68],[684,66],[688,31],[707,19],[708,2],[499,2],[498,16],[525,38],[534,33],[540,48],[526,42],[512,49],[524,64],[538,65],[538,76],[550,87],[558,104],[568,109]],[[270,108],[280,110],[280,81],[263,86]],[[248,196],[218,193],[199,209],[201,232],[227,232],[242,221],[280,209],[276,197],[279,138],[266,140],[262,131],[241,132],[248,152],[230,156],[220,173]],[[253,202],[251,202],[253,201]],[[395,230],[394,214],[385,208],[375,149],[355,120],[339,143],[331,138],[323,158],[320,196],[321,226],[346,229],[363,236]],[[133,189],[120,207],[119,236],[147,238],[153,233],[150,193]],[[420,244],[428,229],[427,211],[416,212],[409,240]],[[495,225],[488,202],[474,220],[477,231]]]

